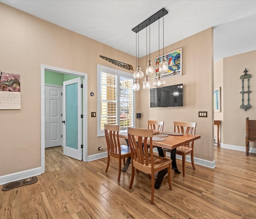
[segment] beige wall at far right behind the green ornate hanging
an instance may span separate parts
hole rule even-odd
[[[222,143],[233,146],[245,146],[245,119],[256,119],[256,50],[248,53],[230,56],[223,60],[223,141]],[[252,109],[240,110],[242,104],[242,80],[240,76],[244,74],[244,69],[252,75],[250,79],[250,104]],[[247,90],[247,84],[245,84]],[[247,96],[245,96],[247,104]],[[250,147],[256,148],[255,143]]]

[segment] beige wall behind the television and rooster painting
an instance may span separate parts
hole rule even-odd
[[[140,80],[141,89],[136,97],[136,112],[141,112],[140,128],[147,128],[148,119],[163,120],[166,131],[174,130],[174,121],[197,122],[196,134],[201,135],[201,139],[195,142],[194,156],[209,161],[214,160],[212,41],[213,30],[209,28],[164,48],[164,53],[183,49],[182,76],[165,80],[166,86],[183,83],[183,107],[150,108],[150,91],[142,89],[144,79]],[[152,59],[157,56],[158,51],[151,54]],[[140,59],[140,66],[145,72],[146,57]],[[150,81],[153,87],[154,75]],[[199,118],[198,111],[207,111],[208,117]]]

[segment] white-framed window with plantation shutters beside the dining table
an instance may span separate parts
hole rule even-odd
[[[104,124],[118,124],[120,130],[134,127],[133,75],[98,65],[98,136]]]

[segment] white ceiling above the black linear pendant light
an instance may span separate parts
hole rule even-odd
[[[136,56],[132,28],[165,8],[164,46],[214,28],[214,61],[256,50],[256,0],[0,0],[38,18]],[[163,47],[160,19],[160,54]],[[158,22],[150,25],[158,50]],[[146,55],[146,28],[139,32]],[[149,52],[149,51],[148,51]],[[165,51],[168,52],[168,51]],[[104,54],[102,54],[104,55]]]

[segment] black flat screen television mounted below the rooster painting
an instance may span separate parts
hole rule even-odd
[[[183,107],[183,84],[151,88],[150,107]]]

